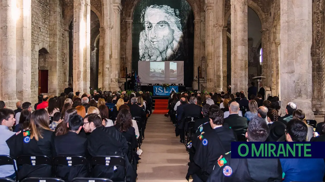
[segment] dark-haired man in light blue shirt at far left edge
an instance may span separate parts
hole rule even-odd
[[[15,134],[15,132],[9,130],[9,127],[12,127],[16,121],[14,115],[15,113],[11,109],[0,109],[0,155],[9,155],[9,147],[6,140]],[[14,166],[1,165],[0,177],[15,179],[16,174]]]

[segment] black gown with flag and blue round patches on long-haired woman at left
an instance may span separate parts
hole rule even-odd
[[[11,136],[6,140],[10,149],[10,156],[15,160],[20,155],[45,155],[50,159],[56,156],[53,131],[40,129],[43,138],[38,141],[32,138],[27,142],[23,132],[17,132],[16,135]],[[26,177],[52,177],[52,167],[49,165],[22,165],[18,172],[19,180]]]

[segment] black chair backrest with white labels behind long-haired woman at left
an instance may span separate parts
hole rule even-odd
[[[30,156],[30,155],[20,155],[17,158],[17,166],[19,165],[51,165],[52,166],[52,160],[45,156],[45,155],[35,155],[35,156]],[[19,167],[18,167],[19,170]]]

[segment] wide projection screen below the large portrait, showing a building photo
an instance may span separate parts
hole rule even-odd
[[[138,75],[142,85],[184,84],[184,62],[139,61]]]

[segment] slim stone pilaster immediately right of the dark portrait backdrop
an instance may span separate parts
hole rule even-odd
[[[194,20],[194,61],[193,61],[193,71],[194,78],[197,76],[200,78],[198,73],[198,67],[200,66],[200,40],[201,40],[201,19]],[[193,84],[193,88],[197,89],[198,85]]]

